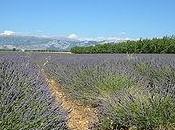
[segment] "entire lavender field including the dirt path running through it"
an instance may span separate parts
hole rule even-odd
[[[174,130],[174,54],[0,53],[2,130]]]

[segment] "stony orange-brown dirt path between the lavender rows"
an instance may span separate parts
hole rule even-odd
[[[68,127],[71,130],[89,130],[90,125],[98,122],[96,110],[94,108],[83,106],[70,100],[56,80],[47,79],[49,88],[52,91],[56,101],[62,103],[65,110],[70,110],[68,114]]]

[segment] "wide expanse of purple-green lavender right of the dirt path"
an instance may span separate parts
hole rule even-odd
[[[44,68],[71,97],[95,103],[98,129],[153,130],[174,129],[174,63],[174,55],[72,55]]]

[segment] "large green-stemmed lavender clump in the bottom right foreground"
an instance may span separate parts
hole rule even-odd
[[[110,104],[109,115],[101,119],[100,129],[174,129],[175,100],[170,96],[136,87],[121,94]]]

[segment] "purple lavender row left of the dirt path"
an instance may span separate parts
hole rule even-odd
[[[51,97],[28,56],[0,58],[0,102],[2,130],[67,129],[66,112]]]

